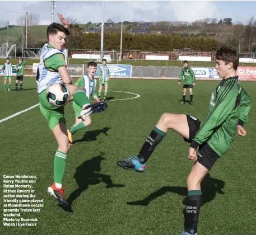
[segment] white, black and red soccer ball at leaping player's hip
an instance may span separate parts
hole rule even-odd
[[[70,93],[67,86],[64,84],[54,83],[48,87],[46,98],[51,105],[60,107],[67,104]]]

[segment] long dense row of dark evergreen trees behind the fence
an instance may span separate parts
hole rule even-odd
[[[100,50],[99,33],[82,34],[79,25],[69,25],[71,35],[66,42],[67,48]],[[120,49],[121,34],[104,32],[104,50]],[[218,48],[218,42],[209,37],[181,37],[176,35],[145,35],[123,33],[122,50],[161,50],[189,48],[194,51],[212,51]]]

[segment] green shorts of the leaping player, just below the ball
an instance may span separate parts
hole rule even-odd
[[[64,106],[55,107],[49,103],[46,98],[47,90],[44,90],[39,95],[40,111],[48,122],[50,130],[55,128],[59,123],[65,123]]]

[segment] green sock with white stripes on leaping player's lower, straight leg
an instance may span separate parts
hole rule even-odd
[[[62,184],[67,154],[57,151],[54,158],[54,182]]]

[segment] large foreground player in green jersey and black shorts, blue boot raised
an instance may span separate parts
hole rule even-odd
[[[217,159],[224,156],[230,148],[235,133],[238,132],[243,137],[246,135],[243,124],[248,121],[252,102],[238,82],[238,64],[239,55],[236,50],[226,47],[217,50],[216,70],[223,80],[212,93],[206,120],[201,123],[195,117],[184,114],[162,114],[138,156],[117,162],[118,166],[125,169],[145,171],[148,158],[169,129],[175,130],[185,141],[191,143],[188,158],[196,163],[187,178],[185,231],[180,235],[197,234],[199,209],[202,204],[201,182]]]

